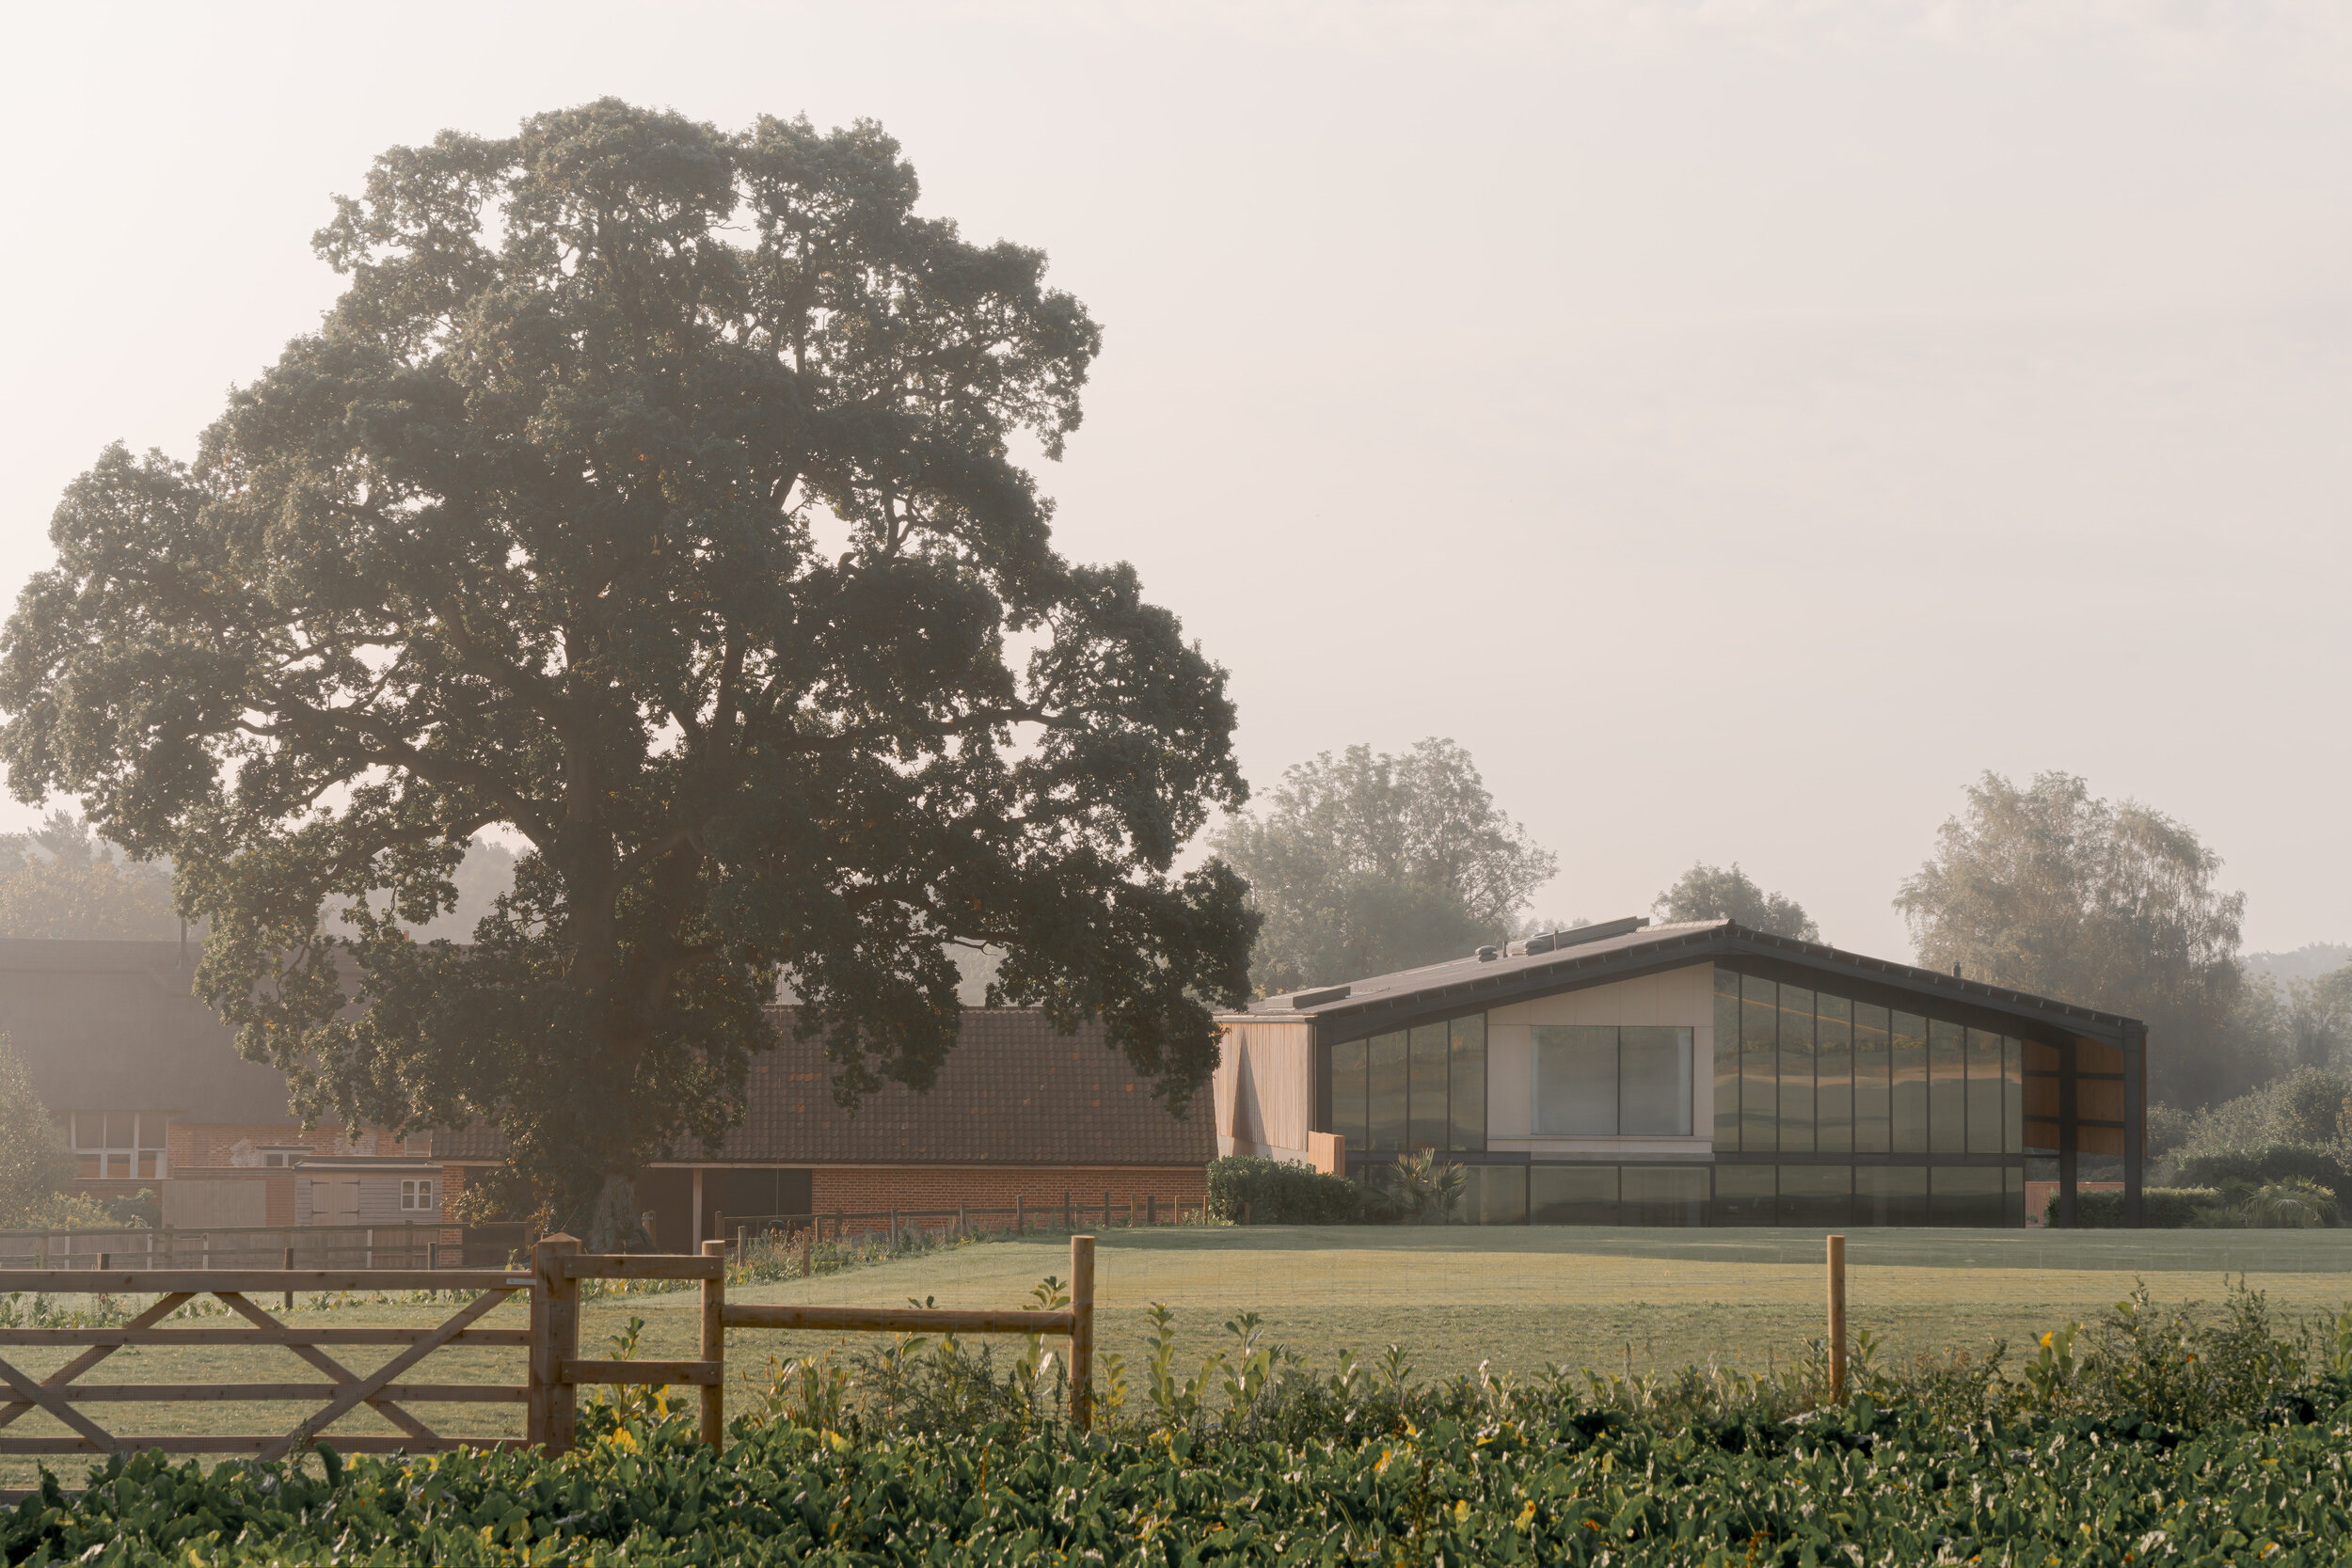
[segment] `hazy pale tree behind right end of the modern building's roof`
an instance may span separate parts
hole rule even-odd
[[[2232,1041],[2244,893],[2161,811],[2093,799],[2072,773],[1985,773],[1896,907],[1929,969],[2079,1001],[2150,1027],[2150,1095],[2206,1105],[2272,1065]]]

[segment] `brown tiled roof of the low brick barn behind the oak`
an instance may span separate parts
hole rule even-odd
[[[1044,1013],[969,1009],[964,1032],[929,1093],[889,1084],[851,1117],[833,1103],[823,1039],[793,1039],[793,1011],[774,1011],[783,1044],[753,1058],[743,1126],[720,1161],[955,1164],[955,1166],[1176,1166],[1216,1154],[1209,1091],[1171,1117],[1101,1025],[1056,1034]],[[442,1159],[496,1159],[494,1128],[435,1133]],[[703,1159],[701,1150],[680,1152]]]

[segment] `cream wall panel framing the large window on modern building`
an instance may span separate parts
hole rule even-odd
[[[1534,1025],[1616,1023],[1691,1030],[1689,1138],[1536,1138]],[[1517,1001],[1486,1013],[1486,1147],[1531,1154],[1712,1154],[1715,964]]]

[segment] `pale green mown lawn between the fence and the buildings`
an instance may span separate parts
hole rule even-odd
[[[1893,1352],[1983,1349],[1997,1338],[2030,1335],[2091,1319],[2143,1276],[2157,1300],[2220,1300],[2225,1279],[2244,1274],[2284,1312],[2352,1307],[2352,1232],[1853,1232],[1849,1302],[1856,1328]],[[1054,1237],[988,1241],[861,1267],[814,1281],[736,1286],[736,1300],[901,1305],[931,1298],[941,1307],[1009,1307],[1044,1274],[1068,1274],[1068,1244]],[[1541,1373],[1548,1361],[1604,1371],[1672,1368],[1719,1361],[1762,1368],[1804,1352],[1820,1333],[1823,1244],[1818,1232],[1639,1232],[1555,1227],[1458,1229],[1310,1229],[1310,1227],[1167,1227],[1110,1229],[1096,1253],[1098,1333],[1108,1352],[1141,1361],[1145,1309],[1174,1314],[1181,1363],[1197,1366],[1225,1335],[1221,1324],[1244,1309],[1270,1335],[1329,1366],[1341,1347],[1374,1359],[1395,1342],[1416,1375],[1496,1371]],[[355,1305],[294,1312],[294,1324],[433,1324],[452,1307]],[[581,1354],[607,1354],[607,1335],[630,1314],[647,1319],[642,1356],[691,1356],[696,1295],[635,1295],[590,1302]],[[522,1326],[520,1305],[485,1326]],[[767,1356],[854,1354],[875,1335],[734,1331],[729,1403],[748,1394]],[[1011,1347],[1007,1347],[1011,1349]],[[21,1349],[7,1359],[42,1375],[66,1349]],[[355,1371],[390,1352],[336,1349]],[[155,1349],[115,1352],[85,1382],[313,1382],[289,1352]],[[437,1352],[407,1380],[522,1382],[520,1349]],[[115,1432],[195,1434],[285,1429],[299,1406],[108,1403],[89,1413]],[[423,1406],[435,1429],[492,1436],[520,1434],[520,1406]],[[54,1432],[28,1415],[7,1436]],[[353,1415],[336,1432],[388,1432],[374,1415]],[[52,1462],[78,1474],[82,1460]],[[0,1460],[0,1486],[24,1486],[33,1462]]]

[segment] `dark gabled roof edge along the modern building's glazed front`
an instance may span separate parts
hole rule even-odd
[[[1510,1006],[1512,1001],[1534,1001],[1536,997],[1557,997],[1590,985],[1637,980],[1670,969],[1689,969],[1691,964],[1726,959],[1733,969],[1740,961],[1785,966],[1813,978],[1835,976],[1849,987],[1860,985],[1889,994],[1936,997],[1945,1004],[1945,1011],[1962,1006],[1987,1016],[1987,1020],[2039,1025],[2037,1030],[2018,1030],[2020,1034],[2032,1032],[2049,1037],[2051,1032],[2063,1032],[2124,1044],[2124,1034],[2129,1030],[2145,1032],[2145,1025],[2117,1013],[2100,1013],[2070,1001],[2051,1001],[2049,997],[2002,990],[1978,980],[1962,980],[1936,973],[1933,969],[1867,959],[1858,952],[1842,952],[1823,943],[1802,943],[1785,936],[1769,936],[1764,931],[1722,924],[1708,926],[1705,931],[1661,936],[1653,943],[1618,947],[1613,952],[1578,954],[1571,947],[1562,950],[1562,957],[1555,964],[1517,969],[1491,978],[1468,976],[1463,980],[1421,992],[1369,997],[1352,1006],[1341,1004],[1317,1009],[1312,1013],[1315,1044],[1324,1046],[1364,1034],[1409,1030],[1421,1023],[1458,1018],[1468,1011],[1486,1011]],[[1870,997],[1863,999],[1867,1001]],[[1955,1023],[1966,1020],[1957,1018]]]

